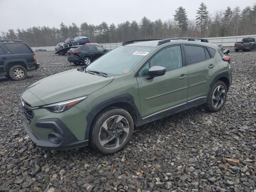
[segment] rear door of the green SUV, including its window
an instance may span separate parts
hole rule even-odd
[[[218,73],[218,64],[204,46],[184,45],[184,51],[188,68],[188,102],[204,100],[212,76]]]

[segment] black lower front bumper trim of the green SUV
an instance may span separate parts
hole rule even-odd
[[[35,126],[42,129],[51,129],[48,133],[49,140],[38,138],[28,127],[23,119],[23,126],[28,136],[36,146],[53,150],[70,150],[88,146],[88,140],[78,140],[68,127],[58,118],[36,121]]]

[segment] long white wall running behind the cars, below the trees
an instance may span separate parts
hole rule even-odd
[[[219,44],[222,46],[234,46],[235,42],[241,41],[242,38],[252,37],[256,38],[256,35],[244,35],[244,36],[230,36],[230,37],[210,37],[207,38],[210,43]],[[105,43],[100,44],[106,49],[114,49],[122,45],[122,43]],[[46,49],[47,51],[54,51],[55,46],[48,46],[48,47],[32,47],[32,50],[35,51],[36,49]]]

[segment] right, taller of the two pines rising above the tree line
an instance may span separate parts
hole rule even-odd
[[[202,2],[196,12],[196,26],[202,32],[204,32],[208,25],[209,12],[207,6]]]

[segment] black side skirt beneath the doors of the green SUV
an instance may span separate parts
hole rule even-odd
[[[182,112],[184,110],[187,110],[187,109],[190,109],[190,108],[202,105],[202,104],[204,104],[206,102],[207,102],[207,97],[200,97],[200,98],[198,98],[196,100],[188,101],[184,105],[179,105],[177,107],[171,108],[170,110],[165,110],[164,112],[159,112],[158,114],[155,114],[154,116],[150,116],[148,118],[147,117],[146,118],[142,118],[142,121],[138,122],[136,124],[136,126],[141,126],[141,125],[144,125],[144,124],[156,121],[158,119],[161,119],[161,118],[164,118],[164,117],[176,114],[178,112]]]

